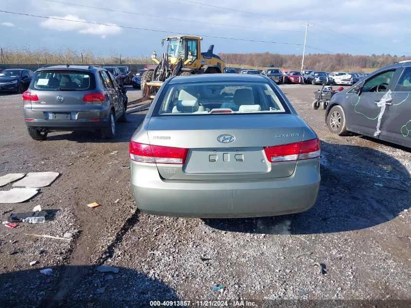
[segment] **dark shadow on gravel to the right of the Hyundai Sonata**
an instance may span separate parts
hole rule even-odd
[[[369,228],[410,207],[410,174],[395,158],[368,147],[321,145],[320,192],[308,211],[204,222],[218,230],[242,233],[322,234]]]

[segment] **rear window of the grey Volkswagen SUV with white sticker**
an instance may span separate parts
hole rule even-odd
[[[86,91],[95,88],[94,75],[89,72],[35,72],[32,88],[44,91]]]

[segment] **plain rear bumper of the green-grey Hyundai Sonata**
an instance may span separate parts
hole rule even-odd
[[[320,162],[297,163],[287,178],[254,181],[166,181],[155,165],[131,161],[131,185],[143,212],[177,217],[262,217],[303,212],[320,186]]]

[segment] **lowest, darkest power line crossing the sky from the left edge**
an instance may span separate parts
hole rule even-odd
[[[1,13],[14,14],[14,15],[21,15],[21,16],[36,17],[36,18],[54,19],[54,20],[63,20],[63,21],[72,21],[72,22],[78,22],[78,23],[94,24],[94,25],[107,26],[107,27],[118,27],[118,28],[133,29],[133,30],[153,31],[153,32],[161,32],[161,33],[172,33],[172,34],[178,34],[178,35],[181,34],[181,32],[172,32],[172,31],[156,30],[156,29],[148,29],[148,28],[128,27],[128,26],[113,25],[113,24],[100,23],[100,22],[94,22],[94,21],[83,21],[83,20],[73,20],[73,19],[67,19],[67,18],[46,17],[46,16],[39,16],[39,15],[32,15],[32,14],[25,14],[25,13],[17,13],[17,12],[10,12],[10,11],[1,11],[1,10],[0,10],[0,12]],[[223,38],[223,39],[231,39],[231,40],[239,40],[239,41],[257,42],[257,43],[270,43],[270,44],[303,46],[303,44],[298,44],[298,43],[263,41],[263,40],[246,39],[246,38],[239,38],[239,37],[208,36],[208,35],[198,35],[198,34],[190,34],[190,33],[187,33],[186,35],[188,35],[188,36],[211,37],[211,38]],[[310,47],[310,48],[322,51],[322,49],[319,49],[319,48],[315,48],[315,47]]]

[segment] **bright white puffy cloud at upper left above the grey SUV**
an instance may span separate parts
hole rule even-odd
[[[55,31],[77,31],[80,34],[98,35],[102,36],[102,38],[106,38],[107,35],[115,35],[121,32],[121,28],[113,27],[115,26],[115,24],[113,23],[107,23],[107,25],[111,26],[84,23],[86,21],[85,19],[79,18],[75,15],[66,15],[63,17],[50,16],[50,18],[56,19],[47,19],[45,21],[42,21],[40,23],[40,27]],[[75,21],[61,19],[69,19]]]

